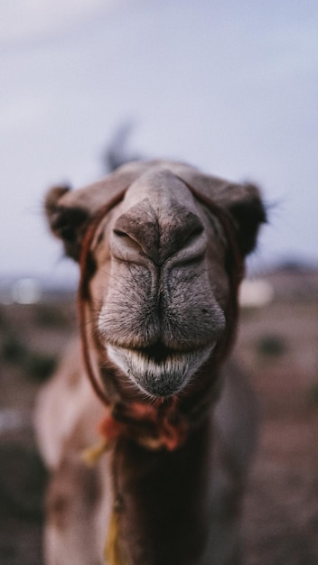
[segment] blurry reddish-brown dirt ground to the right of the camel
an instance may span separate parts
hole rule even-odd
[[[318,563],[318,302],[246,312],[240,357],[263,422],[246,497],[248,565]]]

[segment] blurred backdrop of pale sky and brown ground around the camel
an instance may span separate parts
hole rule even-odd
[[[263,190],[238,350],[264,414],[245,563],[318,562],[317,30],[315,0],[1,3],[1,564],[42,563],[33,403],[76,331],[45,191],[157,157]]]

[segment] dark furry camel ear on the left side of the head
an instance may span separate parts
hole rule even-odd
[[[44,208],[51,232],[62,240],[66,255],[79,261],[80,245],[89,222],[89,211],[77,206],[63,205],[62,197],[69,191],[68,186],[52,187],[46,195]]]

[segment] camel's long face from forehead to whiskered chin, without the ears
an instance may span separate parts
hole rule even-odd
[[[224,243],[212,218],[170,171],[154,171],[129,187],[98,240],[99,343],[146,394],[179,392],[225,329]]]

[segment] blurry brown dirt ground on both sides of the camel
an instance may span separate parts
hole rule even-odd
[[[0,565],[42,565],[46,472],[33,438],[33,402],[74,326],[68,302],[0,309]],[[263,420],[243,509],[244,563],[314,565],[318,301],[244,310],[237,352]]]

